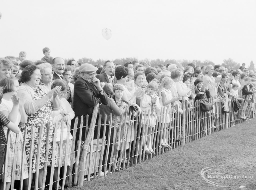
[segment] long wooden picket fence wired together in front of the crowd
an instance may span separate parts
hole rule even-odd
[[[209,100],[210,102],[212,99]],[[46,179],[49,179],[48,188],[52,189],[54,184],[60,185],[61,189],[65,187],[66,178],[68,178],[68,186],[82,186],[84,181],[90,181],[92,178],[96,178],[99,174],[99,171],[102,171],[103,175],[109,175],[111,172],[117,172],[120,170],[126,170],[131,167],[133,164],[141,163],[144,160],[151,159],[157,155],[161,155],[164,152],[168,152],[177,146],[184,146],[185,143],[189,143],[191,141],[197,140],[198,138],[210,135],[216,131],[220,131],[223,129],[227,129],[228,127],[232,127],[237,123],[241,123],[244,121],[241,119],[242,117],[253,118],[256,115],[256,105],[251,102],[250,96],[241,104],[240,109],[237,112],[224,112],[222,110],[221,102],[214,103],[214,110],[208,112],[201,112],[199,102],[193,103],[192,109],[187,106],[185,100],[183,98],[181,103],[181,108],[183,110],[183,115],[180,115],[176,107],[172,108],[171,114],[169,115],[172,122],[170,123],[162,123],[166,117],[164,113],[164,109],[162,108],[157,112],[156,118],[156,126],[153,126],[152,133],[147,134],[147,130],[150,126],[148,126],[149,118],[151,117],[151,113],[149,111],[143,111],[142,113],[138,113],[134,118],[132,113],[129,115],[122,115],[120,117],[113,116],[113,120],[110,121],[104,120],[104,123],[101,123],[101,115],[98,116],[98,107],[99,105],[94,107],[92,120],[90,126],[88,125],[88,116],[86,118],[86,126],[83,126],[83,116],[81,116],[81,124],[78,125],[78,118],[75,119],[74,129],[73,129],[73,139],[72,139],[72,147],[71,152],[68,153],[68,145],[66,146],[66,154],[62,153],[62,143],[63,143],[63,121],[61,124],[61,140],[59,142],[59,158],[56,158],[56,134],[57,127],[54,130],[53,136],[53,146],[52,146],[52,159],[51,162],[54,163],[55,159],[59,159],[58,165],[58,179],[57,181],[53,181],[54,175],[54,164],[51,164],[50,168],[47,167],[48,160],[44,161],[44,169],[42,182],[45,184]],[[233,110],[233,101],[229,105],[229,109]],[[142,115],[144,115],[142,119]],[[216,117],[215,123],[212,123],[212,116]],[[106,118],[106,117],[105,117]],[[112,115],[110,114],[110,118]],[[96,123],[97,122],[97,123]],[[216,128],[213,128],[212,125],[215,125]],[[97,127],[95,127],[95,125]],[[107,127],[110,126],[110,127]],[[86,128],[86,138],[85,141],[81,141],[82,139],[82,128]],[[34,175],[36,179],[38,179],[39,175],[39,158],[40,158],[40,148],[41,148],[41,140],[42,129],[40,128],[38,143],[37,143],[37,162],[36,162],[36,172]],[[47,127],[46,132],[46,147],[49,147],[49,127]],[[108,129],[108,130],[106,130]],[[77,131],[80,131],[79,140],[77,142],[77,150],[75,150],[75,139]],[[103,130],[103,131],[101,131]],[[70,127],[67,129],[70,131]],[[97,138],[93,138],[93,134],[97,132]],[[35,146],[35,137],[34,137],[35,129],[32,126],[31,132],[31,148],[30,148],[30,159],[28,164],[28,183],[29,188],[33,187],[34,189],[38,189],[37,180],[35,183],[32,183],[33,175],[31,173],[31,165],[32,165],[32,156],[33,150]],[[23,157],[25,157],[25,143],[26,142],[26,134],[27,130],[24,132],[23,142]],[[67,133],[68,134],[68,133]],[[101,135],[100,135],[101,134]],[[112,134],[112,136],[111,136]],[[69,135],[67,135],[67,142],[69,142]],[[148,143],[149,138],[151,138],[150,146],[154,150],[155,154],[146,154],[145,147],[146,143]],[[145,140],[143,140],[145,139]],[[161,140],[166,139],[170,148],[162,147]],[[11,189],[14,189],[14,175],[16,171],[16,160],[22,159],[17,158],[15,156],[17,152],[17,144],[18,144],[18,135],[16,137],[16,143],[14,145],[10,144],[9,141],[9,133],[7,133],[7,142],[6,142],[6,155],[8,155],[8,150],[10,146],[14,146],[14,162],[13,162],[13,170],[12,170],[12,181],[11,181]],[[149,144],[148,144],[149,145]],[[3,145],[2,145],[3,146]],[[62,156],[61,156],[62,155]],[[70,166],[68,167],[68,157],[70,156]],[[62,166],[62,158],[65,157],[65,162]],[[48,158],[48,151],[46,151],[46,158]],[[108,159],[109,158],[109,159]],[[23,159],[22,159],[23,160]],[[8,163],[8,156],[5,157],[5,163]],[[74,163],[74,164],[72,164]],[[24,176],[24,168],[26,167],[26,163],[22,161],[22,165],[20,166],[22,179]],[[61,167],[64,172],[61,172]],[[7,166],[6,164],[3,167],[3,187],[5,189],[6,175],[7,175]],[[47,170],[48,168],[48,170]],[[68,175],[67,174],[68,169]],[[50,170],[50,172],[49,172]],[[47,172],[48,171],[48,172]],[[17,188],[17,187],[15,187]],[[19,189],[23,189],[23,180],[19,182]],[[45,189],[45,186],[42,187]]]

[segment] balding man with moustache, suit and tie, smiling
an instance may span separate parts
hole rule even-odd
[[[62,73],[65,70],[65,61],[61,57],[55,57],[52,60],[52,70],[54,71],[52,80],[61,79],[63,80]]]

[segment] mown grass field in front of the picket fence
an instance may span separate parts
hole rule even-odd
[[[172,151],[149,159],[129,170],[106,178],[84,182],[70,189],[256,189],[256,119],[203,137]],[[208,179],[225,184],[219,187],[206,182],[200,172],[215,166],[210,175],[228,175],[226,179]],[[224,174],[221,174],[224,173]],[[230,179],[230,175],[252,175],[252,179]],[[239,188],[244,185],[246,187]]]

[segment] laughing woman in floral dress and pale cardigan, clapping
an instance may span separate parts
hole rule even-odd
[[[44,75],[43,75],[44,76]],[[41,139],[41,148],[40,148],[40,157],[39,157],[39,178],[33,180],[38,180],[38,189],[43,186],[42,176],[44,163],[47,161],[47,165],[51,166],[52,158],[52,141],[54,133],[54,125],[52,122],[52,111],[57,111],[61,107],[61,102],[59,99],[60,87],[56,86],[52,90],[48,90],[46,86],[39,85],[41,79],[41,73],[37,65],[27,66],[21,74],[21,82],[24,84],[19,87],[17,93],[20,98],[20,103],[24,104],[20,108],[21,114],[24,114],[26,117],[26,124],[20,128],[24,133],[27,128],[26,135],[26,157],[29,161],[30,157],[30,148],[31,148],[31,128],[34,125],[34,154],[32,158],[32,173],[36,172],[36,159],[37,159],[37,146],[38,146],[38,137],[40,128],[42,129],[42,139]],[[46,132],[49,129],[49,145],[46,147]],[[46,151],[48,151],[48,158],[46,158]]]

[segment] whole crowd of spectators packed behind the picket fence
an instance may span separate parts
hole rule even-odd
[[[103,128],[106,132],[113,127],[115,119],[122,123],[122,130],[128,128],[132,122],[124,115],[132,113],[132,118],[138,117],[143,120],[148,118],[147,129],[141,138],[143,149],[146,154],[155,154],[152,149],[152,131],[159,125],[164,126],[164,133],[161,136],[161,146],[171,148],[168,139],[166,139],[165,129],[172,122],[170,117],[173,111],[183,114],[181,108],[182,97],[185,98],[186,107],[191,109],[194,102],[200,99],[213,98],[214,102],[221,102],[223,110],[228,111],[231,99],[237,98],[238,101],[244,101],[244,98],[250,97],[255,101],[256,92],[256,70],[248,70],[242,65],[237,70],[227,70],[221,65],[205,65],[198,67],[196,63],[188,64],[185,67],[175,64],[160,64],[157,67],[151,67],[145,61],[133,60],[123,65],[116,65],[108,60],[103,65],[96,64],[78,64],[72,59],[65,63],[61,57],[51,57],[50,49],[43,49],[44,57],[41,60],[32,62],[26,60],[26,52],[22,51],[19,57],[7,56],[0,58],[0,170],[3,173],[3,165],[7,164],[6,189],[10,188],[11,174],[15,172],[15,180],[23,180],[23,187],[28,188],[28,163],[32,158],[32,173],[36,172],[37,143],[40,131],[42,131],[42,140],[40,148],[39,177],[38,188],[42,184],[42,172],[45,160],[48,160],[47,166],[54,164],[54,181],[58,178],[59,159],[62,155],[68,154],[66,150],[71,151],[72,141],[79,140],[80,131],[77,130],[76,139],[63,140],[60,147],[60,140],[56,140],[57,146],[54,151],[56,158],[51,162],[52,144],[54,142],[54,129],[71,129],[73,133],[74,121],[78,117],[78,124],[83,122],[82,141],[86,138],[86,125],[90,125],[93,108],[99,104],[99,114],[101,117],[100,138],[102,138]],[[162,109],[161,121],[156,120],[158,110]],[[176,110],[174,110],[176,109]],[[112,118],[110,118],[112,113]],[[141,114],[142,113],[142,114]],[[88,120],[86,119],[86,116]],[[84,116],[81,121],[81,116]],[[117,116],[117,117],[116,117]],[[106,125],[104,125],[106,117]],[[245,116],[244,116],[245,117]],[[215,108],[212,111],[212,128],[215,126]],[[244,118],[247,119],[247,118]],[[62,124],[64,123],[64,126]],[[98,123],[98,122],[96,122]],[[22,158],[23,135],[26,131],[26,146],[24,157],[25,170],[23,179],[20,179],[21,161],[17,159],[16,169],[13,166],[14,146],[10,146],[8,152],[8,163],[5,161],[5,144],[7,131],[9,130],[10,143],[16,142],[18,135],[17,156]],[[94,139],[97,138],[98,130],[94,131]],[[69,131],[68,131],[69,132]],[[57,132],[58,133],[58,132]],[[134,131],[128,131],[129,138],[133,138]],[[122,134],[122,132],[121,132]],[[46,136],[48,135],[49,144],[46,147]],[[59,133],[56,135],[58,138]],[[113,130],[110,135],[110,142],[113,141]],[[31,141],[34,146],[31,147]],[[108,139],[107,139],[108,140]],[[129,139],[126,139],[129,141]],[[179,141],[177,139],[176,141]],[[69,148],[66,148],[66,147]],[[30,149],[34,148],[34,154],[30,155]],[[127,147],[124,147],[127,149]],[[60,154],[62,149],[62,155]],[[77,143],[76,143],[77,149]],[[119,145],[119,149],[121,149]],[[106,150],[106,149],[105,149]],[[109,149],[111,152],[111,147]],[[48,154],[46,154],[48,152]],[[47,158],[46,158],[47,155]],[[105,159],[110,163],[110,154]],[[68,166],[71,161],[68,157]],[[63,156],[62,164],[65,162]],[[107,166],[109,167],[109,166]],[[103,168],[102,168],[103,171]],[[101,175],[101,171],[99,174]],[[3,177],[3,175],[1,175]],[[66,178],[65,184],[68,185]],[[3,186],[1,180],[0,186]],[[58,189],[58,184],[56,189]]]

